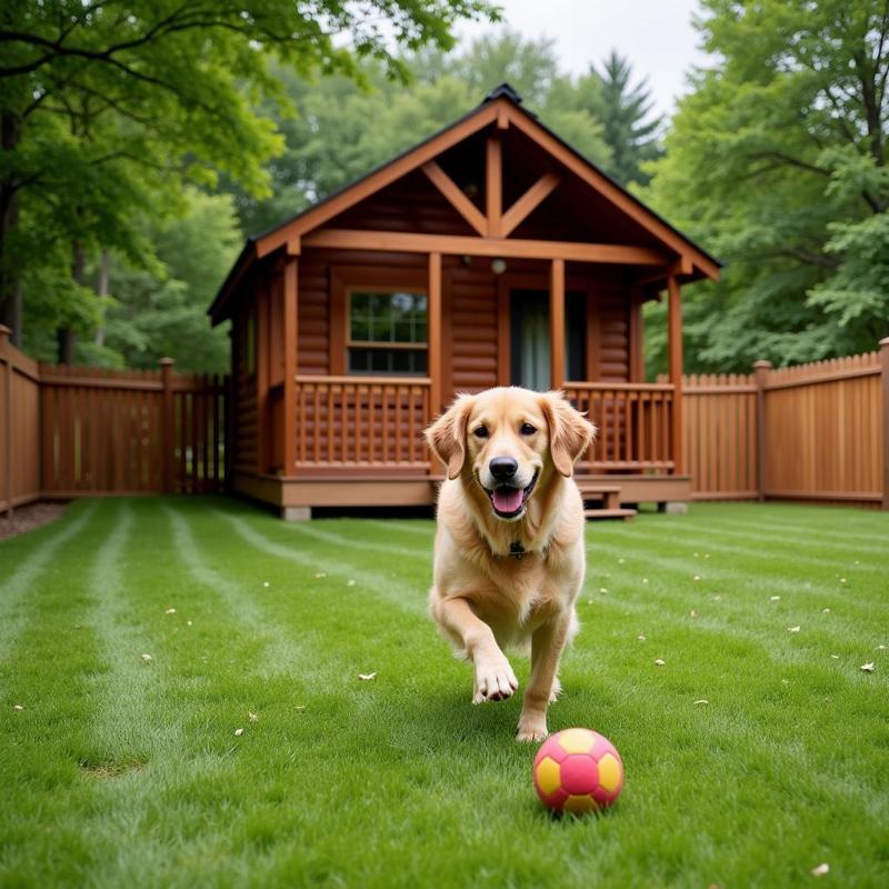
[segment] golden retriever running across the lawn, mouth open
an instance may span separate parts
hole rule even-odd
[[[559,659],[578,630],[583,501],[571,478],[596,427],[559,392],[458,396],[427,430],[448,468],[438,499],[429,610],[475,667],[472,702],[519,687],[503,649],[531,653],[517,739],[547,737]]]

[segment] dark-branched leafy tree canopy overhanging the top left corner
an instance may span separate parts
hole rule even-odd
[[[261,194],[264,164],[281,148],[272,121],[253,110],[263,97],[283,100],[268,70],[271,54],[302,73],[353,77],[360,76],[357,58],[372,57],[403,77],[390,36],[411,49],[429,42],[447,48],[455,21],[482,14],[493,14],[486,0],[4,3],[0,308],[14,340],[21,338],[23,282],[29,273],[48,273],[40,251],[44,232],[22,224],[32,212],[32,192],[39,192],[34,203],[58,204],[78,187],[72,170],[88,170],[92,182],[101,178],[101,188],[83,188],[77,203],[67,203],[77,240],[93,244],[101,241],[90,228],[97,206],[103,222],[126,223],[129,213],[127,203],[107,200],[104,188],[110,183],[114,191],[121,181],[132,187],[139,170],[149,179],[159,176],[173,192],[181,182],[213,183],[224,172]],[[97,130],[109,146],[99,146]],[[114,246],[137,247],[122,239]]]

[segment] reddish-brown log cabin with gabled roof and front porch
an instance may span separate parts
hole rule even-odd
[[[431,505],[423,428],[517,384],[599,427],[576,472],[596,515],[682,503],[681,287],[719,268],[502,84],[248,240],[209,309],[231,319],[230,487],[289,519]],[[649,383],[642,306],[663,293],[669,374]]]

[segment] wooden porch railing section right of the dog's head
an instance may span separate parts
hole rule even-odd
[[[588,472],[669,472],[670,383],[566,382],[568,400],[586,411],[599,434],[578,468]]]

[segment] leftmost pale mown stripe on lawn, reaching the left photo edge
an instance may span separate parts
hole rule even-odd
[[[51,531],[34,533],[21,541],[24,545],[22,547],[17,547],[19,541],[13,539],[0,550],[4,571],[10,571],[7,579],[0,582],[0,661],[8,656],[32,613],[33,597],[28,593],[33,592],[41,573],[48,569],[57,570],[52,567],[53,559],[87,529],[93,509],[94,503],[86,503],[78,515],[60,520]],[[21,559],[18,565],[13,563],[16,549],[24,549],[23,557],[17,557],[17,560]]]

